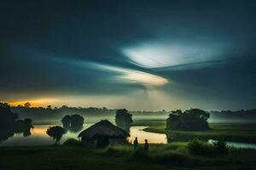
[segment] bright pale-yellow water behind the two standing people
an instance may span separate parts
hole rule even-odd
[[[148,139],[150,144],[166,144],[166,134],[160,133],[148,133],[143,131],[146,127],[131,127],[130,128],[130,137],[128,138],[129,142],[132,142],[136,137],[140,144],[143,144],[145,139]]]

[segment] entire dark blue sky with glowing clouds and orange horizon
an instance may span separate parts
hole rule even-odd
[[[1,1],[0,100],[256,107],[255,1]]]

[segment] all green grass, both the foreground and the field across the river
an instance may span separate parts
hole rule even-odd
[[[170,131],[165,121],[139,120],[133,126],[147,126],[146,131],[166,133],[171,138],[225,139],[228,141],[256,141],[255,124],[212,123],[207,131]],[[140,146],[143,148],[143,146]],[[199,156],[189,152],[188,142],[150,144],[148,153],[134,151],[131,144],[110,146],[107,149],[83,146],[27,146],[0,147],[1,170],[238,170],[256,168],[256,150],[230,148],[222,156]]]

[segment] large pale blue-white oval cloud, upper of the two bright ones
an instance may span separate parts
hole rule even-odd
[[[227,50],[224,44],[199,44],[191,42],[141,42],[135,46],[122,48],[135,65],[145,68],[159,68],[188,65],[218,59]]]

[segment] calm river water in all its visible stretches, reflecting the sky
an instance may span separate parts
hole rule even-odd
[[[90,127],[93,123],[86,123],[84,129]],[[22,133],[15,133],[15,135],[2,142],[2,146],[13,146],[13,145],[49,145],[54,144],[55,140],[50,138],[46,134],[46,130],[53,125],[36,125],[32,129],[31,136],[23,137]],[[131,137],[128,138],[129,142],[132,142],[136,137],[138,138],[139,143],[144,143],[144,139],[148,139],[150,144],[167,144],[166,134],[162,133],[148,133],[143,131],[146,127],[137,126],[130,128]],[[84,130],[83,129],[83,130]],[[81,130],[82,131],[82,130]],[[80,132],[79,132],[80,133]],[[61,143],[67,139],[73,138],[78,139],[79,133],[67,132],[61,138]],[[209,143],[214,142],[214,140],[208,140]],[[227,142],[227,145],[230,147],[236,148],[252,148],[256,149],[256,144],[245,144],[245,143],[236,143],[236,142]]]

